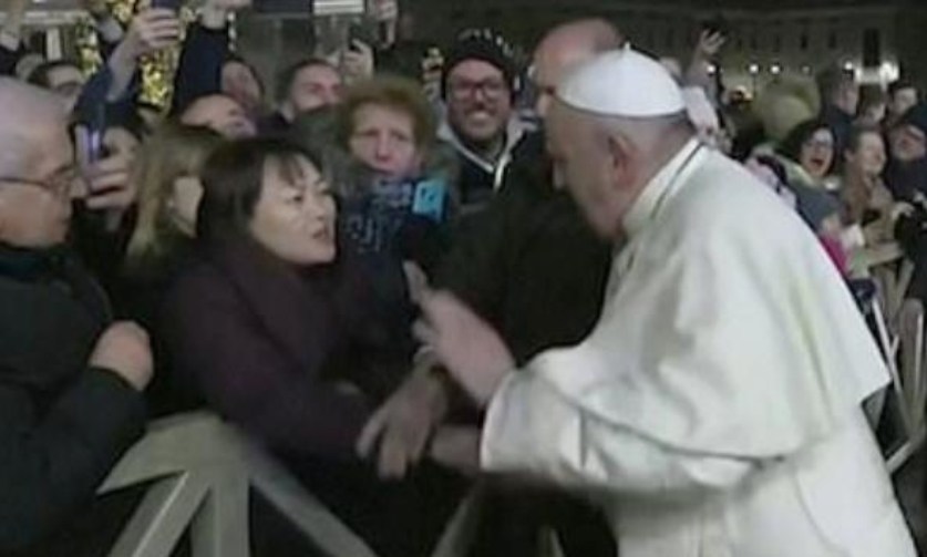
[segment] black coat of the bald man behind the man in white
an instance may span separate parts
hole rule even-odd
[[[611,261],[611,246],[552,187],[543,145],[540,134],[522,142],[502,189],[463,226],[437,278],[501,332],[519,363],[591,331]]]

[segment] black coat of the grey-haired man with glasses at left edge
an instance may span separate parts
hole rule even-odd
[[[109,321],[66,252],[0,247],[0,554],[79,515],[143,432],[142,396],[87,368]]]

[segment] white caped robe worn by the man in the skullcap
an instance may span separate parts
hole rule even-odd
[[[914,557],[861,410],[887,373],[806,226],[696,142],[624,224],[599,323],[505,380],[483,467],[588,491],[621,557]]]

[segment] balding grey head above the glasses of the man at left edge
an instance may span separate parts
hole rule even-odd
[[[0,106],[3,107],[0,174],[30,174],[42,166],[42,159],[64,156],[59,152],[62,144],[68,143],[68,113],[58,96],[13,79],[0,78]],[[71,156],[70,148],[65,151]],[[56,163],[59,161],[52,164]]]

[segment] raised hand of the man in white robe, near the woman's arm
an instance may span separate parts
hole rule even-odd
[[[453,295],[428,292],[415,334],[481,406],[488,404],[515,360],[492,327]]]

